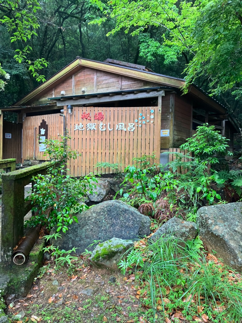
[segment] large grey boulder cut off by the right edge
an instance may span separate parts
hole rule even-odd
[[[197,211],[199,235],[209,252],[242,272],[242,203],[201,207]]]

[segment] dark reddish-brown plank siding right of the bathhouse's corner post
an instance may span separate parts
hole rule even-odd
[[[192,103],[184,97],[175,95],[174,147],[179,147],[191,137]]]

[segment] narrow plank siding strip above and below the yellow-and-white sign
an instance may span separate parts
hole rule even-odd
[[[162,97],[161,101],[161,129],[170,130],[170,94],[166,94]],[[170,137],[160,138],[160,149],[169,148]]]

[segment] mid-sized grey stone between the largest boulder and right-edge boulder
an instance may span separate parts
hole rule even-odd
[[[197,234],[198,227],[196,223],[184,221],[182,219],[174,217],[164,223],[150,237],[150,239],[156,241],[162,236],[164,238],[166,238],[166,236],[173,236],[174,238],[181,239],[186,242],[187,240],[193,240],[194,238],[196,238]]]

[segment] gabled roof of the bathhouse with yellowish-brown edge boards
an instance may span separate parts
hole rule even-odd
[[[104,62],[99,62],[91,59],[76,57],[71,63],[66,65],[60,71],[48,78],[44,83],[40,84],[34,90],[30,91],[23,98],[16,101],[13,106],[28,106],[31,105],[35,99],[40,98],[48,90],[52,89],[66,78],[70,77],[74,73],[78,72],[82,68],[93,68],[96,70],[114,73],[125,77],[136,78],[146,82],[153,82],[161,84],[167,87],[174,87],[176,89],[182,89],[185,85],[185,80],[182,78],[175,78],[167,75],[162,75],[151,71],[142,65],[121,62],[113,59],[106,59]],[[196,85],[190,85],[188,93],[197,99],[201,99],[203,102],[216,109],[222,114],[227,114],[227,109],[215,99],[211,98],[207,93],[198,88]],[[233,124],[235,129],[239,131],[239,127],[235,118],[228,116],[228,119]]]

